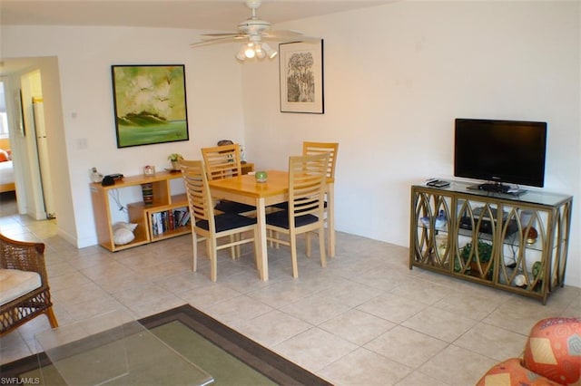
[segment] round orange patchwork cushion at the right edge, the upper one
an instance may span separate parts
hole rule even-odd
[[[535,324],[523,364],[560,384],[581,384],[581,318],[548,318]]]

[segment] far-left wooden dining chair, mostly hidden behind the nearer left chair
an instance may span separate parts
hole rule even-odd
[[[202,158],[209,180],[227,179],[242,174],[241,151],[240,145],[237,143],[202,148]],[[256,207],[221,199],[216,203],[214,209],[224,213],[248,213],[255,211]]]

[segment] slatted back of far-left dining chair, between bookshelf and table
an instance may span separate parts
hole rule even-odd
[[[242,174],[240,145],[214,146],[202,149],[208,179],[226,179]]]

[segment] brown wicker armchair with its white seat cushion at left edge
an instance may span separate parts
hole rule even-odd
[[[0,336],[45,314],[58,327],[44,265],[44,244],[0,235]]]

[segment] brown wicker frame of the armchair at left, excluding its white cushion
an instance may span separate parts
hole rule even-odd
[[[36,273],[40,275],[40,286],[0,305],[0,337],[40,314],[46,315],[51,327],[58,327],[44,265],[44,244],[16,241],[0,235],[0,271],[3,270],[18,270],[4,271],[5,274]],[[6,294],[10,288],[3,285],[6,284],[0,283],[0,291]]]

